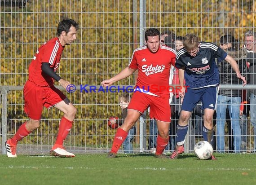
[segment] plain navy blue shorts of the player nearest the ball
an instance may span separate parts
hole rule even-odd
[[[202,101],[201,109],[216,110],[218,87],[207,87],[199,89],[187,88],[181,105],[181,110],[192,112],[199,101]]]

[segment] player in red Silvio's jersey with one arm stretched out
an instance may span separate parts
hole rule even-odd
[[[169,140],[171,108],[169,104],[169,75],[175,64],[176,51],[160,45],[160,32],[150,28],[145,32],[146,46],[137,48],[129,65],[111,79],[102,81],[102,86],[110,86],[138,70],[137,83],[128,105],[124,123],[117,129],[111,151],[107,157],[114,158],[141,114],[150,106],[150,119],[155,119],[159,135],[157,137],[156,158],[168,158],[163,154]]]

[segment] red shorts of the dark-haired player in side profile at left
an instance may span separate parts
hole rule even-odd
[[[49,108],[66,99],[66,96],[55,87],[41,87],[26,81],[23,89],[24,111],[29,118],[40,120],[43,106]]]

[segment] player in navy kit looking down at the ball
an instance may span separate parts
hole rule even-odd
[[[176,66],[179,69],[179,82],[183,86],[188,86],[185,92],[183,88],[181,96],[181,113],[177,125],[176,149],[172,152],[170,159],[177,159],[179,154],[184,152],[185,135],[188,130],[188,121],[194,107],[202,101],[203,116],[203,140],[212,143],[213,137],[213,114],[216,109],[216,99],[218,95],[219,70],[216,66],[216,58],[223,58],[229,62],[235,71],[237,78],[246,79],[239,71],[237,62],[223,49],[209,42],[199,42],[199,38],[194,34],[187,34],[183,40],[182,48],[176,56]],[[216,159],[213,155],[209,159]]]

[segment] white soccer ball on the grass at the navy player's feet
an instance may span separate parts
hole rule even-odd
[[[199,141],[194,145],[194,154],[199,159],[209,159],[212,156],[213,148],[208,141]]]

